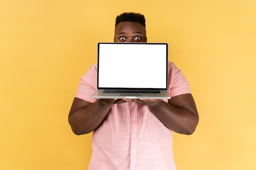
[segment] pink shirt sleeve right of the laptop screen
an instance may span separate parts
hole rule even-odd
[[[171,97],[191,93],[188,80],[173,62],[168,63],[168,88]]]

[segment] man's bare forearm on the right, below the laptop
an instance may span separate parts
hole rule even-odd
[[[164,101],[149,108],[167,128],[180,134],[191,135],[198,124],[197,114]]]

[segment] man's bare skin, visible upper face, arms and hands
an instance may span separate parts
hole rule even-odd
[[[137,22],[120,22],[115,28],[114,42],[147,42],[146,29]],[[180,134],[191,135],[198,124],[199,116],[191,94],[168,99],[97,99],[91,103],[74,98],[68,120],[73,132],[82,135],[96,129],[113,104],[129,100],[147,105],[150,111],[169,129]]]

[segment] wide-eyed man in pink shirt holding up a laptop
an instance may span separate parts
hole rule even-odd
[[[114,42],[147,42],[145,27],[144,15],[123,13],[116,18]],[[69,113],[76,135],[93,131],[89,170],[175,170],[172,131],[190,135],[199,119],[187,79],[175,64],[168,63],[168,100],[95,100],[96,89],[94,64],[81,77]]]

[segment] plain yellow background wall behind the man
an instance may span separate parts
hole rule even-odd
[[[91,135],[67,122],[80,77],[115,17],[146,16],[200,114],[174,135],[177,170],[256,169],[255,0],[0,0],[0,169],[86,170]]]

